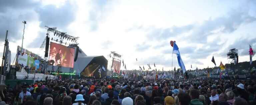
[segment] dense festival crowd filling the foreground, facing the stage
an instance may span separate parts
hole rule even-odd
[[[256,105],[256,81],[47,80],[7,85],[0,96],[0,105]]]

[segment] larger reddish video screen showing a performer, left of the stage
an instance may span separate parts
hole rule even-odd
[[[74,67],[75,49],[66,46],[50,43],[49,65]]]

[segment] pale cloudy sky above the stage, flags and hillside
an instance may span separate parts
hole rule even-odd
[[[44,26],[57,27],[80,37],[87,55],[104,55],[110,64],[111,51],[121,54],[129,70],[147,69],[148,63],[180,68],[170,41],[176,41],[186,69],[213,67],[212,56],[217,66],[229,63],[233,48],[239,62],[249,61],[249,44],[256,50],[255,0],[1,0],[0,54],[8,30],[12,61],[22,43],[22,21],[29,51],[44,56]],[[53,33],[50,38],[58,39]]]

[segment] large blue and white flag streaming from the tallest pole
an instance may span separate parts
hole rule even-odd
[[[183,61],[181,59],[179,48],[176,45],[176,43],[173,43],[173,52],[172,53],[177,55],[179,66],[181,67],[183,73],[185,73],[186,72],[186,68],[185,68],[185,65],[184,65],[184,63],[183,63]]]

